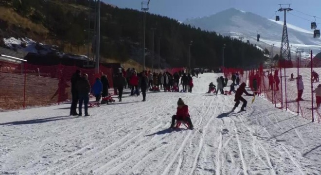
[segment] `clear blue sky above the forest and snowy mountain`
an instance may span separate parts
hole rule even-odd
[[[141,9],[142,0],[103,0],[114,4],[120,8]],[[148,0],[144,0],[148,1]],[[309,29],[310,22],[302,18],[313,21],[313,17],[305,14],[317,16],[317,22],[321,23],[321,0],[150,0],[150,13],[175,18],[184,21],[187,18],[204,17],[213,15],[228,8],[237,8],[243,11],[252,12],[266,18],[275,18],[275,11],[280,6],[279,3],[292,3],[292,15],[287,15],[287,22],[298,27]],[[297,11],[296,11],[297,10]],[[298,12],[299,11],[299,12]],[[303,13],[300,13],[303,12]],[[283,20],[283,13],[278,13]],[[321,28],[319,24],[318,28]]]

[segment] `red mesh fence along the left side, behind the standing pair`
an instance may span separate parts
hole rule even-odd
[[[10,69],[9,69],[9,68]],[[87,73],[92,86],[101,73],[107,75],[112,88],[112,69],[100,66],[94,69],[74,66],[37,66],[31,64],[0,65],[0,108],[18,109],[27,106],[49,105],[71,100],[71,76],[76,70]]]

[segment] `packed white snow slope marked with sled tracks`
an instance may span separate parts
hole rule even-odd
[[[229,114],[233,95],[205,93],[218,76],[194,78],[193,93],[147,93],[146,102],[126,93],[89,117],[67,116],[70,105],[1,112],[0,174],[321,175],[320,124],[260,97]],[[178,98],[194,130],[168,129]]]

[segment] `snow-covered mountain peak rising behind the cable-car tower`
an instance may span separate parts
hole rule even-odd
[[[270,49],[270,45],[274,44],[277,47],[277,49],[274,48],[274,51],[277,51],[274,53],[280,52],[283,21],[275,21],[231,8],[211,16],[187,19],[184,23],[225,36],[244,37],[244,41],[249,39],[251,44],[261,48]],[[292,45],[291,52],[295,53],[299,48],[306,49],[305,51],[312,49],[314,53],[320,52],[321,39],[313,38],[312,30],[305,30],[287,23],[287,32],[289,44]],[[260,42],[256,41],[257,34],[260,34]]]

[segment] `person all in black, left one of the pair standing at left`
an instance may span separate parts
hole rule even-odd
[[[70,107],[70,115],[78,115],[77,113],[77,103],[79,101],[79,95],[77,91],[77,81],[81,79],[80,70],[76,70],[76,72],[71,76],[71,96],[72,102]]]

